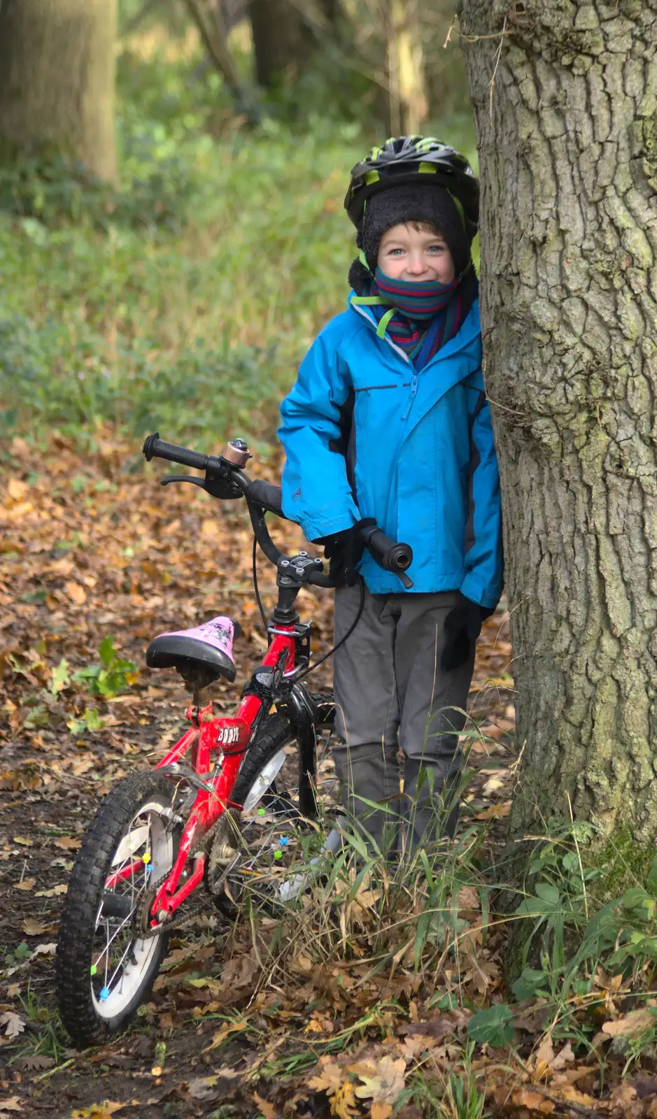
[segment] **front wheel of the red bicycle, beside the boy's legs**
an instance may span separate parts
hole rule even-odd
[[[336,807],[337,781],[329,753],[335,706],[328,693],[311,698],[318,713],[316,799],[322,817]],[[275,901],[281,888],[287,888],[283,883],[320,852],[325,839],[321,825],[304,817],[299,807],[299,746],[287,715],[264,721],[242,763],[232,799],[242,805],[242,811],[227,817],[213,846],[209,877],[215,883],[223,877],[216,902],[234,918],[245,893],[253,901]],[[223,856],[224,866],[217,856]]]

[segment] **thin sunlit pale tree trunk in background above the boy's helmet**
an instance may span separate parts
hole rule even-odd
[[[419,0],[389,0],[387,56],[391,132],[420,132],[426,116]]]

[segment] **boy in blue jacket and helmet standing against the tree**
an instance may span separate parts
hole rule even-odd
[[[348,310],[318,336],[281,405],[283,510],[326,545],[340,580],[336,643],[364,595],[334,665],[347,806],[379,850],[400,839],[413,849],[434,834],[458,775],[475,642],[503,587],[470,253],[479,185],[454,149],[397,137],[353,169],[345,207],[360,255]],[[363,553],[367,518],[412,546],[411,590]],[[456,816],[442,831],[453,835]]]

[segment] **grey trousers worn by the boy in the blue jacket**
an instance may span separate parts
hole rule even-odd
[[[413,849],[456,828],[458,735],[475,649],[460,668],[441,671],[444,620],[456,592],[364,593],[360,621],[334,657],[336,730],[344,739],[334,746],[336,771],[345,807],[372,845]],[[359,602],[358,586],[336,591],[336,642],[353,624]]]

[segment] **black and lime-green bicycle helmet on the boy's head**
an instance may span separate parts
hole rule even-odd
[[[479,219],[479,180],[460,151],[434,137],[391,137],[351,168],[345,209],[356,228],[362,225],[368,198],[404,184],[444,187],[472,241]]]

